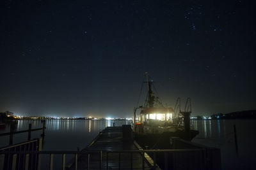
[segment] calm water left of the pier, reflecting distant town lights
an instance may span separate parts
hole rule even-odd
[[[47,120],[45,129],[45,139],[43,150],[77,150],[86,147],[99,134],[100,131],[108,126],[121,126],[131,124],[129,120]],[[17,131],[27,130],[28,124],[32,124],[32,129],[42,127],[40,120],[19,120]],[[10,132],[10,127],[0,130]],[[42,131],[31,132],[31,139],[39,138]],[[28,133],[15,134],[13,143],[26,141]],[[0,147],[8,145],[9,139],[0,137]]]

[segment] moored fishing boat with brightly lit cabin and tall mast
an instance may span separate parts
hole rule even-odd
[[[184,111],[180,110],[180,98],[174,109],[163,106],[156,96],[156,88],[152,90],[153,82],[146,72],[143,83],[147,84],[147,97],[143,106],[134,108],[133,131],[136,141],[146,149],[170,148],[170,137],[191,141],[199,134],[190,129],[191,99],[187,99]],[[140,114],[136,113],[138,110]]]

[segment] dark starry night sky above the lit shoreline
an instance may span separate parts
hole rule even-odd
[[[250,1],[1,1],[0,111],[132,117],[143,74],[192,115],[256,109]],[[141,97],[141,102],[144,99]]]

